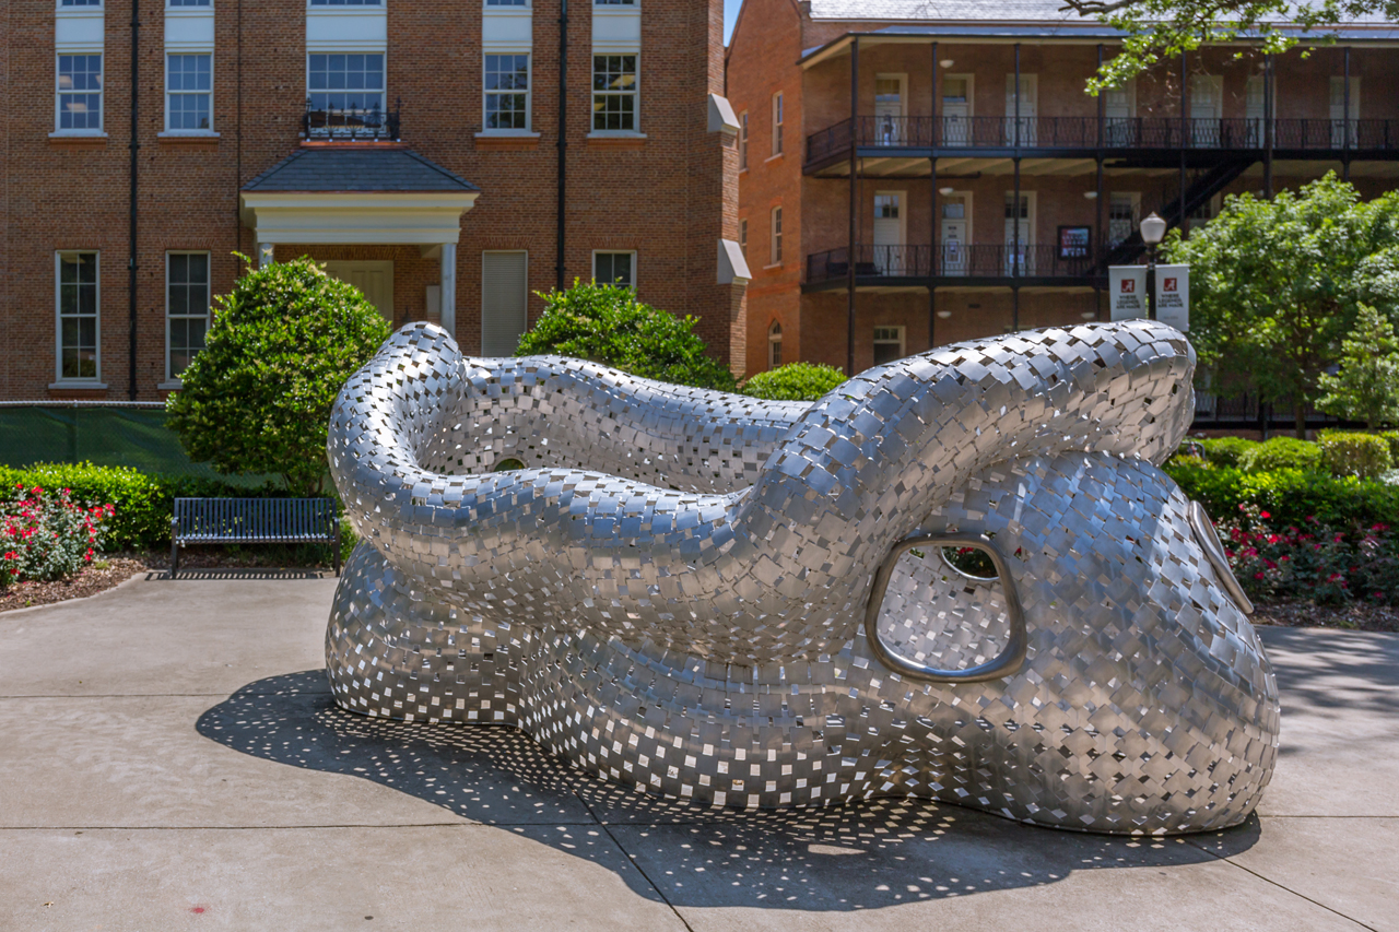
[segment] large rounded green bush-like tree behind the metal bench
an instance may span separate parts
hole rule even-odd
[[[305,256],[249,269],[215,305],[204,348],[166,402],[168,424],[196,462],[320,493],[330,407],[388,322]]]

